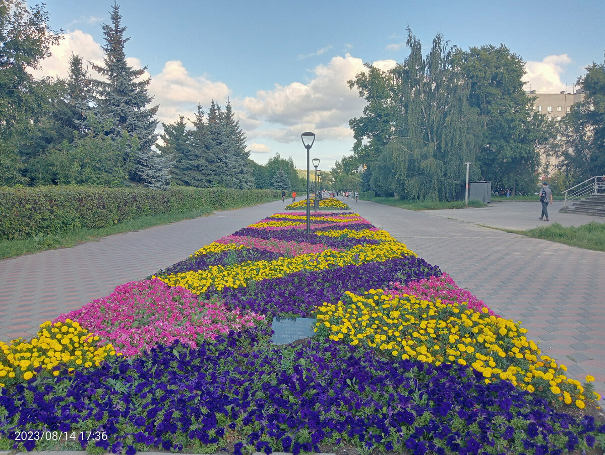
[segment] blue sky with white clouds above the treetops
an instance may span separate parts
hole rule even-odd
[[[47,0],[65,39],[37,75],[65,76],[71,52],[99,62],[101,24],[114,0]],[[326,170],[351,154],[348,119],[364,106],[347,79],[364,62],[382,68],[408,56],[406,27],[428,50],[436,33],[463,50],[504,44],[526,62],[532,89],[572,90],[584,67],[603,62],[605,1],[155,1],[118,2],[126,55],[147,66],[166,123],[231,100],[250,157],[280,153],[306,167],[300,140],[316,133],[312,158]],[[93,75],[94,76],[94,75]]]

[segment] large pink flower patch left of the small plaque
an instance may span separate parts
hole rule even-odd
[[[54,321],[67,318],[78,321],[126,356],[175,340],[197,347],[206,338],[214,340],[265,320],[264,315],[230,310],[220,302],[204,302],[188,289],[170,287],[159,279],[117,286],[112,294]]]

